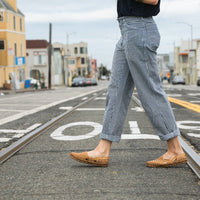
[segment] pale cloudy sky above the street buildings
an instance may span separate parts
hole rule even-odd
[[[26,39],[49,39],[69,44],[88,43],[89,56],[98,65],[112,67],[116,42],[120,38],[117,0],[17,0],[25,14]],[[161,0],[161,12],[155,21],[161,34],[158,53],[173,52],[181,40],[200,38],[200,0]]]

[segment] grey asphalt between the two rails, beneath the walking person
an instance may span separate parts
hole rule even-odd
[[[29,125],[43,123],[45,116],[70,106],[74,106],[73,101],[52,107],[45,115],[29,116]],[[199,120],[200,114],[172,106],[177,121]],[[145,113],[134,102],[130,104],[122,140],[112,146],[108,168],[72,160],[71,151],[87,151],[97,145],[104,107],[105,92],[2,164],[0,199],[199,200],[200,182],[187,165],[166,169],[145,167],[147,160],[166,151],[166,144],[157,139]],[[18,125],[25,128],[24,122]],[[17,127],[17,123],[13,122],[13,126]],[[93,137],[89,138],[88,133],[94,130]],[[145,139],[147,136],[151,139]]]

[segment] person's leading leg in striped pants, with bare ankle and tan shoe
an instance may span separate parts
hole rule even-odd
[[[72,153],[71,157],[84,163],[93,164],[92,158],[108,158],[112,142],[119,142],[128,106],[134,90],[134,82],[126,60],[123,40],[116,45],[110,83],[108,86],[103,129],[97,147],[84,154]],[[88,159],[90,162],[88,162]],[[102,166],[98,164],[98,166]],[[105,166],[105,165],[103,165]],[[106,165],[107,166],[107,165]]]

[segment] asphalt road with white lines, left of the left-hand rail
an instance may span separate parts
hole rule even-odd
[[[107,84],[105,81],[93,87],[59,87],[51,91],[0,96],[0,150],[63,113],[65,110],[60,107],[76,106]]]

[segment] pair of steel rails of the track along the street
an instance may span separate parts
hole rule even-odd
[[[74,112],[79,107],[83,106],[84,104],[92,101],[97,96],[100,96],[102,93],[96,94],[93,97],[83,101],[79,105],[71,108],[70,110],[62,113],[61,115],[57,116],[56,118],[52,119],[51,121],[45,123],[44,125],[40,126],[39,128],[35,129],[34,131],[28,133],[23,138],[19,139],[18,141],[11,144],[9,147],[0,151],[0,164],[8,160],[14,154],[16,154],[19,150],[21,150],[24,146],[28,143],[32,142],[35,138],[40,136],[44,131],[48,130],[49,128],[53,127],[57,122],[62,121],[66,117],[68,117],[72,112]],[[134,95],[132,100],[139,106],[142,107],[141,102],[137,99]],[[200,156],[184,141],[182,137],[179,137],[180,143],[187,155],[188,158],[188,166],[192,169],[192,171],[197,175],[200,179]]]

